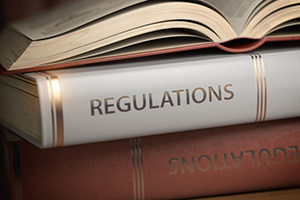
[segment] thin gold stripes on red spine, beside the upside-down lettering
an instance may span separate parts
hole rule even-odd
[[[132,160],[133,199],[145,199],[143,154],[140,138],[130,139],[130,152]]]

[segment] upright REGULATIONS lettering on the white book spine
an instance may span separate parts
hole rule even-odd
[[[213,102],[214,99],[217,101],[231,100],[234,97],[231,87],[232,84],[227,84],[224,87],[218,85],[215,88],[207,86],[207,88],[196,87],[193,90],[178,89],[171,90],[171,92],[148,93],[147,95],[142,94],[141,97],[132,94],[120,97],[92,99],[90,100],[90,112],[91,116],[95,116],[97,114],[114,114],[116,112],[129,112],[133,110],[142,111],[146,108],[150,110],[163,109],[167,105],[171,107],[187,106],[193,103],[198,105],[204,102]]]

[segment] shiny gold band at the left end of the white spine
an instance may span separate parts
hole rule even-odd
[[[47,80],[52,117],[52,146],[59,147],[64,145],[64,126],[63,126],[63,111],[62,99],[58,77],[48,72],[40,72]]]

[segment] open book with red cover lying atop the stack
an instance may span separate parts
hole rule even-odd
[[[282,40],[300,40],[300,0],[77,0],[4,29],[0,64],[35,71]]]

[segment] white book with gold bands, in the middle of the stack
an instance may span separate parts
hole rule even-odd
[[[300,47],[0,77],[1,124],[41,148],[300,116]]]

